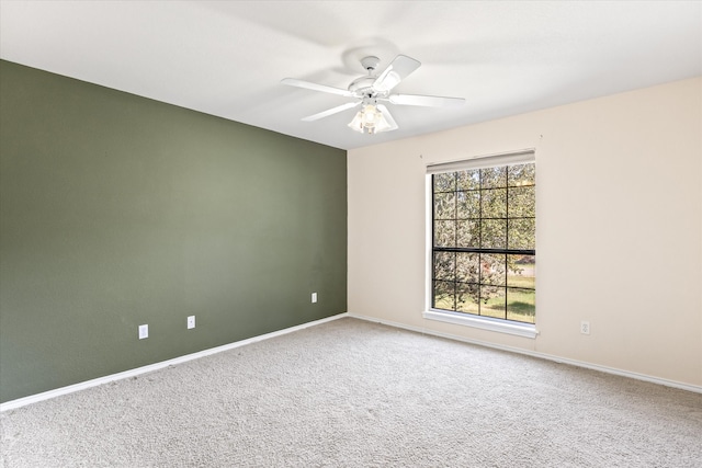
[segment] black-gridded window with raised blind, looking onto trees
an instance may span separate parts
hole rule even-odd
[[[431,309],[535,323],[533,151],[430,165]]]

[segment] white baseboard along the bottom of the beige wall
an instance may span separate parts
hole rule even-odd
[[[568,357],[555,356],[555,355],[552,355],[552,354],[540,353],[540,352],[536,352],[536,351],[522,350],[522,349],[519,349],[519,347],[505,346],[505,345],[501,345],[501,344],[489,343],[489,342],[486,342],[486,341],[473,340],[473,339],[469,339],[469,338],[458,336],[458,335],[451,334],[451,333],[442,333],[442,332],[433,331],[433,330],[421,328],[421,327],[412,327],[412,326],[407,326],[407,324],[404,324],[404,323],[398,323],[398,322],[394,322],[394,321],[389,321],[389,320],[382,320],[382,319],[377,319],[375,317],[360,316],[360,315],[356,315],[356,313],[347,313],[346,316],[354,318],[354,319],[366,320],[366,321],[370,321],[370,322],[385,324],[385,326],[388,326],[388,327],[395,327],[395,328],[399,328],[399,329],[404,329],[404,330],[415,331],[415,332],[418,332],[418,333],[431,334],[431,335],[434,335],[434,336],[445,338],[445,339],[455,340],[455,341],[462,341],[462,342],[465,342],[465,343],[477,344],[477,345],[480,345],[480,346],[492,347],[492,349],[501,350],[501,351],[509,351],[511,353],[524,354],[524,355],[528,355],[528,356],[539,357],[539,358],[542,358],[542,359],[553,361],[553,362],[556,362],[556,363],[569,364],[569,365],[577,366],[577,367],[585,367],[585,368],[588,368],[588,369],[599,370],[599,372],[603,372],[603,373],[607,373],[607,374],[613,374],[613,375],[618,375],[618,376],[622,376],[622,377],[633,378],[633,379],[636,379],[636,380],[644,380],[644,381],[649,381],[649,383],[653,383],[653,384],[664,385],[666,387],[673,387],[673,388],[679,388],[681,390],[688,390],[688,391],[693,391],[695,393],[702,393],[702,386],[698,386],[698,385],[684,384],[684,383],[676,381],[676,380],[668,380],[668,379],[660,378],[660,377],[653,377],[653,376],[649,376],[649,375],[646,375],[646,374],[638,374],[638,373],[633,373],[633,372],[630,372],[630,370],[618,369],[618,368],[614,368],[614,367],[601,366],[599,364],[586,363],[584,361],[570,359]]]

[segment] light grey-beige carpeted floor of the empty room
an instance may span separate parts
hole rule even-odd
[[[7,468],[702,466],[702,395],[350,318],[0,419]]]

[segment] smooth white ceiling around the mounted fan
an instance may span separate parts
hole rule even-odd
[[[362,135],[347,88],[359,60],[422,66],[395,91],[466,99],[388,104],[399,129]],[[700,1],[5,1],[0,57],[352,149],[702,75]]]

